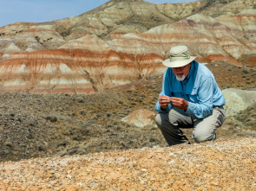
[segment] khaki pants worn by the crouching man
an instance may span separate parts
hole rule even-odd
[[[215,130],[225,120],[223,106],[214,107],[213,114],[207,118],[191,118],[185,111],[173,108],[167,113],[156,116],[155,122],[169,145],[189,143],[180,128],[194,128],[192,138],[197,143],[212,141],[216,138]]]

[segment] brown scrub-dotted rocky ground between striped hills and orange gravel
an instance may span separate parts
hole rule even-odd
[[[221,89],[255,89],[254,68],[217,62],[207,67]],[[155,125],[139,128],[121,121],[138,109],[154,111],[159,92],[161,76],[89,95],[2,93],[0,161],[166,146]],[[218,138],[256,137],[255,115],[252,105],[226,118]],[[188,138],[191,131],[184,130]]]

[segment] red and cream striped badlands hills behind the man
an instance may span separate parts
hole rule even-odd
[[[163,73],[185,44],[202,62],[255,68],[255,0],[111,0],[53,22],[0,28],[0,92],[100,92]]]

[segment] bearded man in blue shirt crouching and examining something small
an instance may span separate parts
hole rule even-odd
[[[162,90],[155,105],[155,121],[169,145],[189,143],[180,128],[194,128],[197,143],[216,139],[225,119],[225,99],[213,73],[194,61],[186,46],[171,48]]]

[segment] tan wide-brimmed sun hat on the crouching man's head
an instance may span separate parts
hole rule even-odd
[[[195,58],[196,56],[190,56],[186,46],[176,46],[170,49],[170,58],[162,64],[166,67],[184,67]]]

